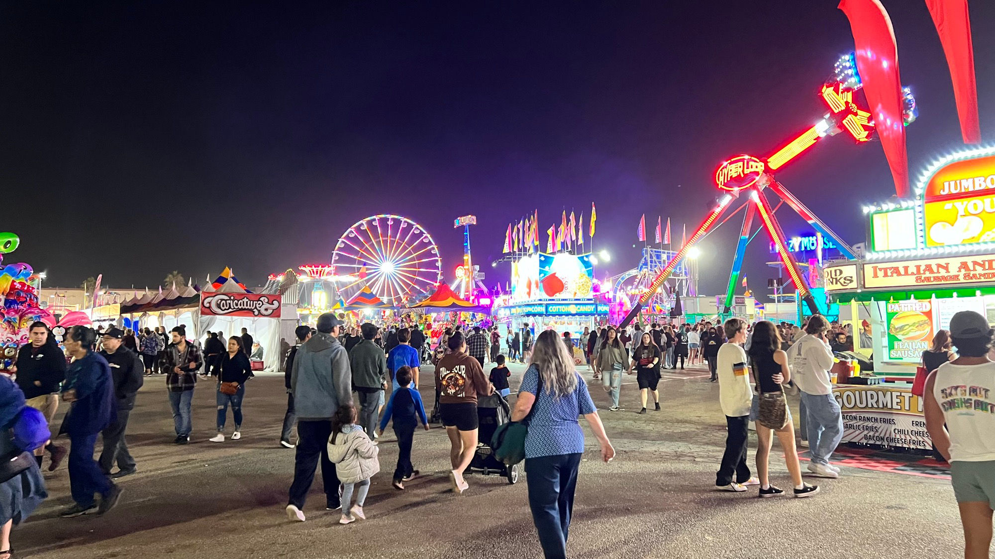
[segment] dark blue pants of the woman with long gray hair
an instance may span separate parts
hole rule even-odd
[[[528,507],[546,559],[566,559],[566,539],[582,453],[525,459]]]

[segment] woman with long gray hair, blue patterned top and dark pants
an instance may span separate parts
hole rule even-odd
[[[528,506],[547,558],[566,557],[577,469],[584,454],[578,416],[584,416],[598,439],[601,459],[612,460],[615,449],[605,435],[587,384],[556,332],[545,330],[535,339],[511,421],[529,418],[525,437]]]

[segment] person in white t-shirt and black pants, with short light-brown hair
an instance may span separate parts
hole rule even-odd
[[[746,485],[758,485],[760,480],[750,475],[746,465],[749,444],[749,412],[753,403],[753,389],[749,385],[749,368],[746,352],[740,345],[746,341],[746,322],[740,318],[725,321],[725,337],[729,341],[718,348],[716,372],[718,373],[718,401],[725,414],[728,435],[725,453],[715,474],[715,485],[741,492]],[[732,476],[735,474],[735,481]]]

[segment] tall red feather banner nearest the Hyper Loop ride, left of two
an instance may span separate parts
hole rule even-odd
[[[898,47],[888,12],[879,0],[843,0],[857,47],[857,71],[871,106],[875,129],[892,168],[898,198],[908,197],[908,155],[902,116]]]

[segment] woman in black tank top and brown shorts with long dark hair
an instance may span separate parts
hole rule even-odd
[[[753,326],[753,338],[750,342],[749,357],[753,380],[760,394],[753,395],[753,406],[750,410],[750,419],[756,421],[760,408],[760,398],[764,394],[783,393],[781,385],[791,380],[791,370],[788,368],[788,355],[781,347],[781,338],[777,334],[777,328],[773,322],[762,320]],[[783,398],[783,396],[782,396]],[[760,425],[756,422],[756,437],[758,444],[756,447],[756,472],[760,477],[760,496],[776,497],[784,494],[784,491],[770,484],[769,462],[770,447],[773,443],[771,434],[773,429]],[[784,451],[785,463],[788,472],[791,473],[791,482],[794,485],[794,495],[798,497],[810,496],[819,490],[818,485],[809,485],[802,480],[802,467],[798,463],[798,451],[795,448],[795,426],[791,421],[791,411],[788,410],[788,423],[783,429],[777,432],[777,440],[781,443]]]

